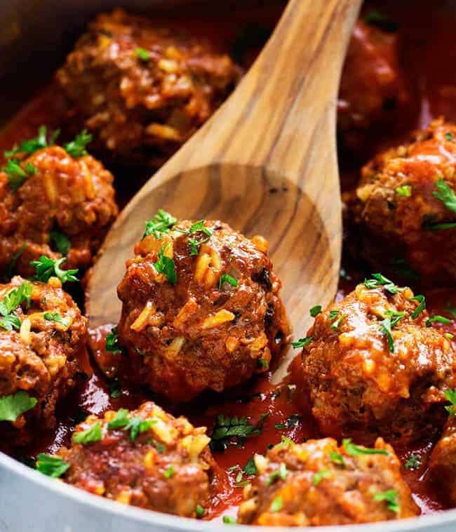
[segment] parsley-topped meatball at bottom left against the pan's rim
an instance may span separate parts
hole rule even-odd
[[[88,434],[88,435],[87,435]],[[206,507],[213,458],[206,427],[193,427],[152,402],[89,415],[76,427],[65,481],[90,493],[184,517]]]

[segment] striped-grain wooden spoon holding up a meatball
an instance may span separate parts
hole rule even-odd
[[[116,323],[125,262],[159,208],[219,219],[269,240],[295,335],[327,305],[342,240],[335,115],[361,0],[290,0],[233,95],[133,197],[107,235],[88,284],[90,327]]]

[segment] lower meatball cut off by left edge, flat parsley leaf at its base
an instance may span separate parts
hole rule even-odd
[[[53,427],[55,404],[87,368],[87,320],[55,277],[0,285],[0,313],[0,419]],[[12,404],[20,408],[13,416]]]

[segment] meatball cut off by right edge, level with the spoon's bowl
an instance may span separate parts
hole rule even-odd
[[[351,211],[371,264],[405,260],[424,282],[456,280],[455,157],[456,125],[441,119],[363,168]]]

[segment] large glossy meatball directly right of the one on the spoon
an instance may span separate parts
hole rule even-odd
[[[455,352],[429,326],[424,296],[375,277],[316,317],[302,352],[304,390],[327,436],[412,441],[444,423]]]

